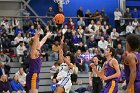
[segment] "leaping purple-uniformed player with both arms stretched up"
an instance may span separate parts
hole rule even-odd
[[[41,59],[41,47],[46,42],[47,38],[52,35],[48,32],[46,36],[39,41],[40,33],[36,32],[33,37],[33,44],[31,47],[30,58],[29,58],[29,72],[26,76],[27,92],[38,93],[39,88],[39,73],[42,64]]]

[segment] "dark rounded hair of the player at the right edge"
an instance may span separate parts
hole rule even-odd
[[[140,38],[135,34],[128,35],[126,41],[133,51],[140,47]]]

